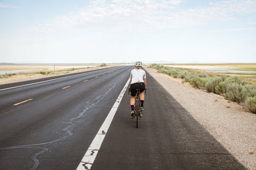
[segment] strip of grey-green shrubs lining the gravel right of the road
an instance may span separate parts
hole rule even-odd
[[[247,110],[256,113],[256,84],[241,80],[237,76],[226,76],[201,72],[187,68],[168,67],[151,64],[158,72],[183,79],[196,88],[220,94],[225,99],[243,105]]]

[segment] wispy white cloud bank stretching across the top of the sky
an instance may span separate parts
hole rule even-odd
[[[30,32],[124,31],[145,32],[185,28],[236,20],[256,12],[256,1],[229,0],[206,7],[180,9],[181,0],[104,0],[91,1],[86,8],[49,22],[38,23]]]

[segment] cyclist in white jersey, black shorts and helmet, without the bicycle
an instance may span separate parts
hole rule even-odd
[[[142,68],[142,62],[137,61],[135,63],[135,68],[131,71],[131,80],[129,87],[131,90],[131,118],[134,117],[134,108],[135,108],[135,96],[136,96],[136,89],[140,89],[140,105],[141,105],[141,111],[144,110],[144,90],[146,89],[146,72]]]

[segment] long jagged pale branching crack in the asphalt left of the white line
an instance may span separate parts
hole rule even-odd
[[[86,114],[88,112],[88,110],[93,109],[95,106],[97,106],[97,104],[106,96],[110,93],[111,90],[113,90],[114,88],[116,88],[116,85],[120,82],[120,80],[114,82],[114,83],[110,83],[109,85],[111,86],[111,88],[106,91],[104,94],[97,96],[95,99],[89,100],[88,102],[86,102],[87,106],[84,106],[84,109],[82,112],[78,113],[77,116],[70,118],[69,122],[66,122],[66,124],[68,124],[68,126],[66,126],[65,128],[61,129],[61,132],[65,132],[66,135],[62,136],[58,139],[49,141],[49,142],[44,142],[44,143],[36,143],[36,144],[27,144],[27,145],[18,145],[18,146],[13,146],[13,147],[7,147],[7,148],[0,148],[0,150],[8,150],[8,149],[24,149],[24,148],[34,148],[34,149],[40,149],[41,151],[35,153],[34,155],[32,155],[31,159],[34,161],[33,166],[30,168],[30,170],[35,170],[38,165],[39,165],[39,160],[38,160],[38,156],[41,154],[44,154],[46,152],[49,151],[49,149],[47,148],[49,145],[58,142],[60,140],[65,140],[69,137],[71,137],[73,135],[72,130],[74,129],[76,123],[81,123],[82,120],[76,120],[77,118],[82,117],[84,114]],[[103,132],[102,132],[103,133]],[[93,155],[97,150],[93,150],[91,155]],[[88,169],[88,167],[86,166],[86,164],[91,164],[91,163],[87,163],[87,162],[83,162],[83,166]]]

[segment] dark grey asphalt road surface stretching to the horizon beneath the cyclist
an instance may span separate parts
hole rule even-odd
[[[0,169],[76,169],[131,69],[0,91]],[[150,75],[147,82],[139,128],[126,92],[91,169],[245,169]],[[36,81],[0,89],[28,83]]]

